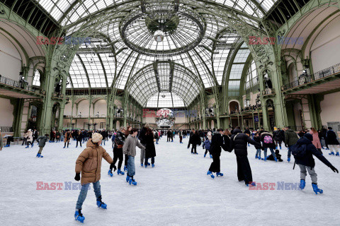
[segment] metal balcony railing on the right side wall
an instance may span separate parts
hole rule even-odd
[[[340,63],[336,64],[334,66],[330,66],[327,69],[317,71],[317,72],[310,74],[310,75],[307,75],[307,76],[300,76],[300,78],[297,78],[297,80],[295,80],[291,83],[288,83],[286,85],[283,85],[282,90],[288,90],[290,88],[295,88],[299,85],[304,85],[304,84],[310,83],[312,81],[317,81],[321,78],[333,76],[337,73],[340,73]]]

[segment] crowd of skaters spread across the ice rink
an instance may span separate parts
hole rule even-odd
[[[313,155],[334,172],[339,173],[331,163],[324,157],[322,149],[329,150],[329,155],[339,156],[336,133],[331,127],[328,129],[293,131],[290,127],[283,129],[274,128],[273,133],[249,128],[241,130],[239,126],[232,129],[212,129],[212,130],[153,130],[149,124],[145,124],[142,129],[135,129],[131,126],[125,128],[121,126],[117,131],[86,131],[86,130],[64,130],[50,131],[50,134],[39,136],[35,129],[28,129],[24,133],[22,145],[26,148],[32,148],[37,141],[39,151],[36,157],[43,157],[42,149],[49,140],[50,143],[64,142],[64,148],[69,148],[70,142],[76,141],[76,148],[82,147],[86,143],[86,148],[80,153],[76,161],[74,179],[81,180],[81,191],[78,197],[75,219],[84,222],[84,215],[81,213],[81,207],[86,198],[89,184],[93,183],[96,195],[97,206],[106,208],[101,198],[101,159],[104,158],[109,164],[108,175],[113,177],[113,171],[117,170],[118,175],[124,175],[126,172],[126,182],[130,185],[137,185],[135,180],[135,156],[136,147],[140,148],[140,165],[141,167],[155,167],[156,148],[159,139],[166,136],[166,142],[174,142],[175,136],[179,136],[179,143],[183,143],[183,138],[188,137],[188,149],[191,146],[191,153],[198,155],[197,147],[202,145],[205,153],[212,158],[212,162],[207,174],[214,179],[223,177],[220,172],[220,156],[222,149],[231,153],[234,150],[237,160],[237,179],[244,182],[246,186],[256,186],[251,174],[251,166],[248,160],[249,145],[254,145],[256,149],[255,159],[272,160],[274,162],[283,162],[280,150],[283,145],[287,149],[287,161],[290,162],[291,155],[295,157],[295,163],[300,167],[300,189],[305,188],[305,179],[307,172],[312,180],[312,188],[315,194],[322,194],[322,189],[317,186],[317,174],[315,172],[315,162]],[[113,158],[103,148],[105,141],[112,140]],[[5,147],[8,147],[6,145]],[[3,141],[0,135],[0,148],[2,149]],[[267,151],[271,154],[267,155]],[[262,154],[263,153],[263,154]],[[149,162],[150,160],[150,162]],[[118,165],[116,166],[116,163]],[[124,167],[123,167],[124,164]],[[123,169],[122,169],[123,167]],[[295,164],[294,164],[295,167]],[[215,175],[214,175],[215,173]]]

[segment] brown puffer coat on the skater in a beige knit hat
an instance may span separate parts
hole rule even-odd
[[[102,158],[109,164],[113,162],[110,155],[101,145],[95,145],[92,143],[92,139],[89,139],[85,150],[76,161],[76,173],[81,172],[81,185],[98,182],[101,179]]]

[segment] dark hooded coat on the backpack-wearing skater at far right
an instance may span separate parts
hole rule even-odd
[[[308,136],[310,136],[310,138],[307,138]],[[324,162],[325,165],[331,167],[331,162],[322,156],[322,153],[315,148],[310,139],[313,140],[313,136],[310,133],[306,133],[305,136],[302,136],[302,138],[297,141],[297,145],[306,145],[306,155],[302,158],[295,158],[296,164],[314,167],[315,161],[313,155],[315,155],[320,161]]]

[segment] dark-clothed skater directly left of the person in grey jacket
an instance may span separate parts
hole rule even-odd
[[[118,160],[118,170],[117,170],[117,174],[121,174],[124,175],[124,172],[122,172],[120,170],[120,168],[122,167],[122,163],[123,163],[123,145],[125,142],[125,127],[124,126],[120,126],[120,131],[117,132],[117,135],[115,136],[115,141],[114,141],[114,145],[113,145],[113,165],[115,165],[115,162],[117,162]],[[112,172],[109,170],[108,174],[113,177]]]

